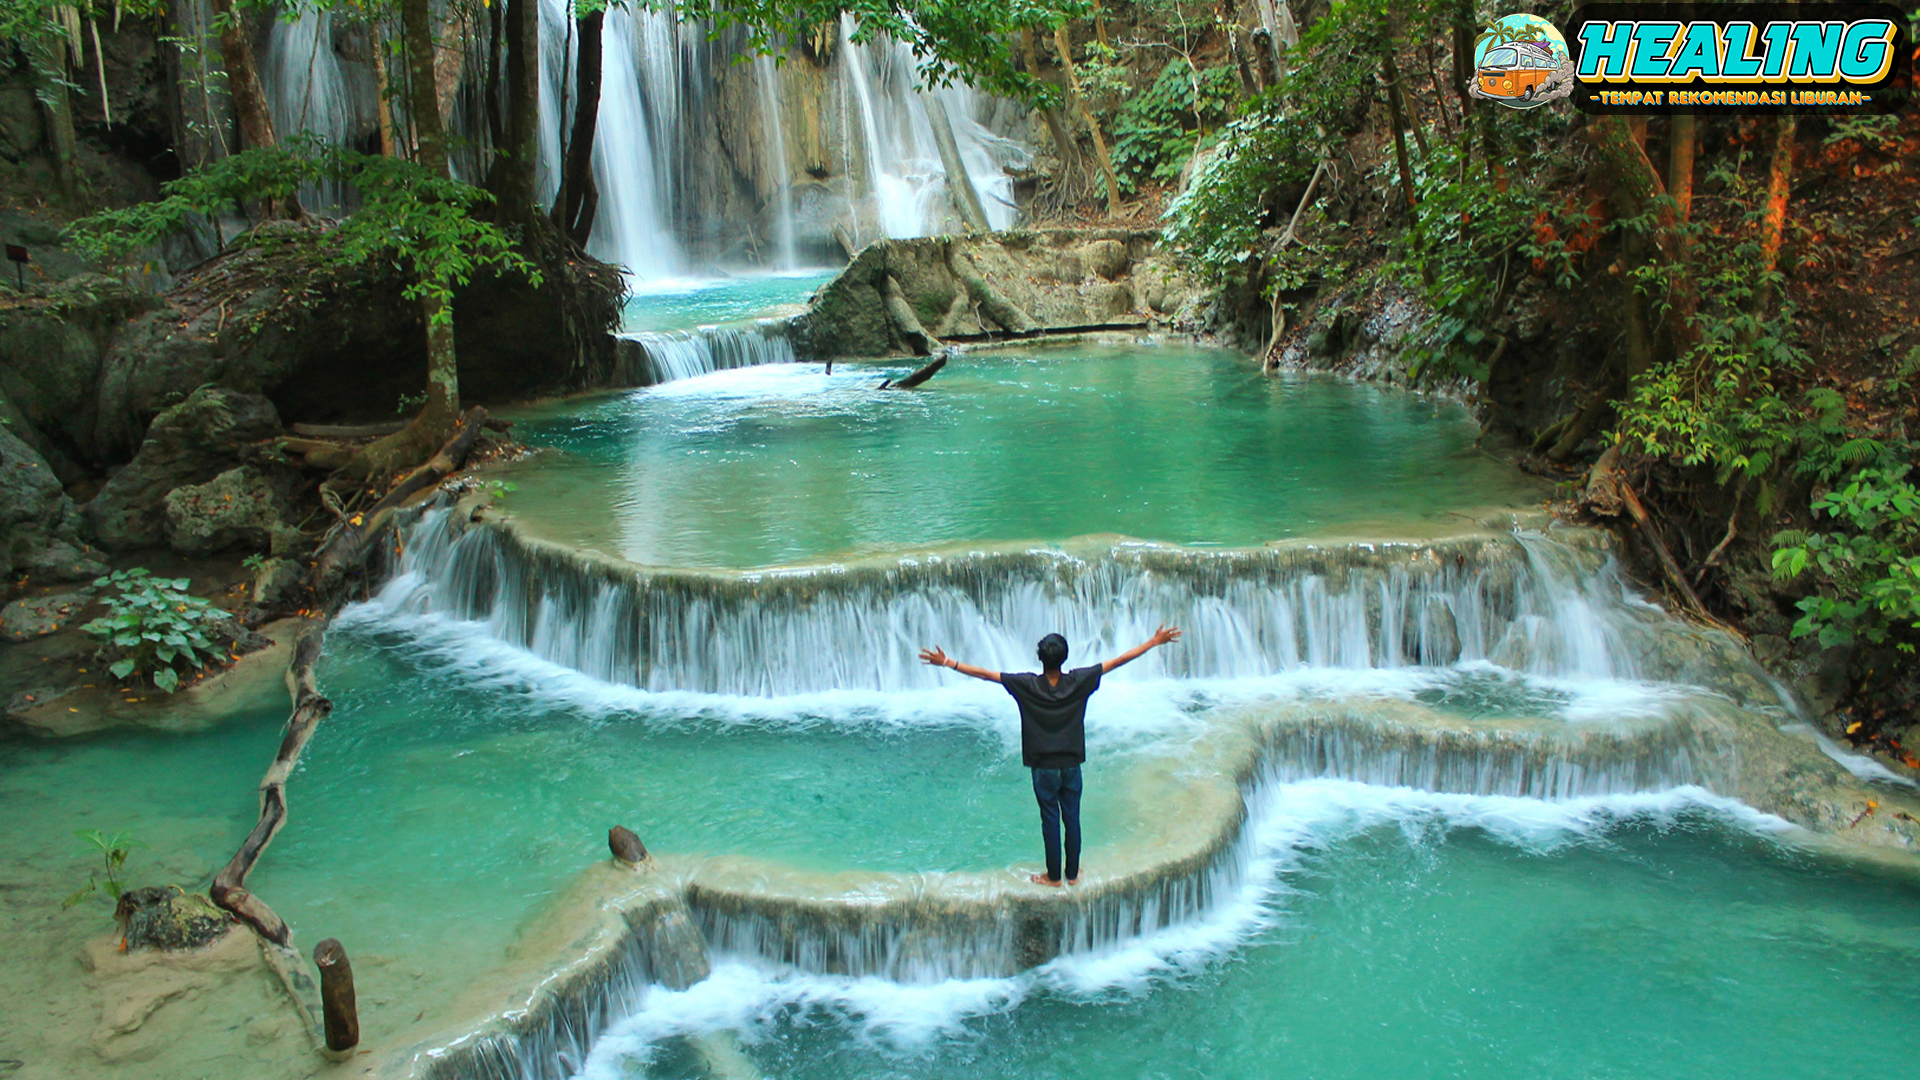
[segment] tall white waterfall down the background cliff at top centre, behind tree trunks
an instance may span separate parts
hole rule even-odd
[[[541,0],[540,21],[540,156],[541,194],[559,190],[564,140],[572,129],[574,25],[568,0]],[[843,110],[860,117],[843,133],[843,160],[858,158],[860,175],[849,177],[849,206],[841,221],[854,242],[876,236],[925,236],[956,229],[948,206],[925,96],[937,94],[952,117],[954,142],[973,186],[996,229],[1014,225],[1014,188],[1008,165],[1025,163],[1031,152],[989,133],[977,119],[985,98],[972,86],[920,88],[908,46],[885,37],[852,44],[852,23],[843,17],[843,48],[828,79],[839,86]],[[722,102],[716,79],[732,75],[728,63],[745,48],[739,33],[714,37],[707,23],[680,23],[664,10],[611,8],[603,25],[601,115],[593,146],[593,181],[599,188],[588,250],[620,263],[639,279],[684,277],[697,263],[726,256],[799,265],[801,234],[793,198],[789,133],[781,121],[785,79],[770,58],[741,67],[753,79],[751,125],[756,133],[720,133]],[[726,113],[735,115],[735,113]],[[751,138],[755,148],[732,161],[718,140]],[[858,142],[858,146],[852,146]],[[730,163],[732,161],[732,163]],[[726,169],[766,169],[766,175],[726,179]],[[755,217],[772,225],[756,236],[747,221],[728,221],[735,181],[751,181],[764,209]],[[812,221],[812,219],[810,219]],[[808,250],[831,244],[810,225]],[[816,234],[818,233],[818,234]],[[768,242],[770,240],[770,242]]]

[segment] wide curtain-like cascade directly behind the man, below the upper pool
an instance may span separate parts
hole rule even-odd
[[[659,692],[925,690],[941,684],[916,661],[927,644],[1021,669],[1046,632],[1091,657],[1158,623],[1185,626],[1187,640],[1123,678],[1488,661],[1549,678],[1726,682],[1751,669],[1632,600],[1611,557],[1546,538],[1010,552],[730,575],[653,571],[434,511],[409,528],[401,571],[380,603],[476,621],[551,663]],[[1726,692],[1772,701],[1764,680]]]

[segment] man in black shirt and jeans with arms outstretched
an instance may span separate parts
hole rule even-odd
[[[1033,769],[1033,798],[1041,803],[1041,840],[1046,844],[1046,874],[1033,874],[1033,884],[1058,888],[1079,882],[1079,767],[1087,761],[1087,698],[1100,688],[1102,675],[1177,640],[1181,640],[1179,626],[1162,626],[1152,638],[1110,661],[1060,671],[1068,661],[1068,640],[1046,634],[1039,648],[1039,675],[987,671],[948,659],[937,646],[920,650],[922,661],[998,682],[1020,703],[1020,757]],[[1066,876],[1060,867],[1062,824],[1068,834]]]

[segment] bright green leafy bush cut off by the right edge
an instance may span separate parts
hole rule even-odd
[[[1822,646],[1893,640],[1912,653],[1912,630],[1920,630],[1920,490],[1907,480],[1907,467],[1860,469],[1816,498],[1812,513],[1841,528],[1774,536],[1776,577],[1812,569],[1826,586],[1799,601],[1793,636],[1816,636]]]

